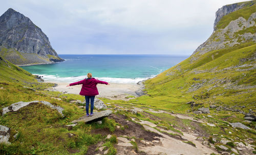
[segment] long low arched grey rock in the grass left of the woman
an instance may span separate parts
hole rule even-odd
[[[55,105],[52,105],[50,102],[47,102],[47,101],[31,101],[31,102],[23,102],[23,101],[20,101],[20,102],[16,102],[16,103],[13,103],[11,104],[10,106],[7,106],[7,107],[4,107],[2,110],[3,110],[3,113],[2,115],[4,116],[6,113],[8,112],[16,112],[18,109],[24,107],[24,106],[27,106],[29,105],[30,103],[42,103],[42,104],[45,104],[46,106],[49,106],[53,109],[56,109],[58,111],[58,113],[63,117],[64,115],[62,114],[62,111],[64,110],[62,107],[60,106],[55,106]]]

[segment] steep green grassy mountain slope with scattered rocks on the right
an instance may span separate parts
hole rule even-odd
[[[188,101],[206,107],[226,105],[241,113],[255,110],[255,2],[233,4],[240,8],[224,15],[193,55],[145,81],[148,96],[141,101],[183,112],[196,110],[185,104]]]

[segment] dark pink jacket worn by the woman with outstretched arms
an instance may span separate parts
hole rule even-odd
[[[82,96],[95,96],[99,95],[98,89],[97,89],[97,84],[108,84],[108,82],[105,81],[100,81],[95,78],[90,78],[90,79],[83,79],[78,82],[70,83],[69,85],[77,85],[77,84],[82,84],[82,88],[80,91],[80,95]]]

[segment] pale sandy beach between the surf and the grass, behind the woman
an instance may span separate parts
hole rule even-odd
[[[82,85],[68,86],[66,82],[46,81],[56,83],[57,86],[50,88],[50,91],[62,92],[65,94],[79,94]],[[97,97],[105,97],[114,100],[129,100],[125,97],[135,96],[138,97],[142,93],[143,85],[136,83],[110,83],[110,85],[98,84],[99,95]]]

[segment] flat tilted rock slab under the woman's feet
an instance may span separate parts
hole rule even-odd
[[[93,116],[86,117],[86,115],[72,121],[72,123],[77,122],[84,122],[84,123],[90,123],[90,122],[97,122],[105,117],[108,117],[112,114],[112,110],[104,110],[102,112],[95,112]]]

